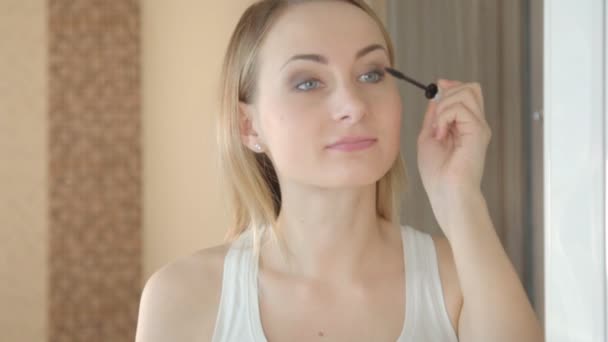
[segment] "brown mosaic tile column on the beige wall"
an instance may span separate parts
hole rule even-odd
[[[49,341],[133,341],[141,284],[140,9],[49,0]]]

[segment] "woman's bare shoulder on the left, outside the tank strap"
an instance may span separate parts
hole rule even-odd
[[[211,340],[228,249],[219,245],[182,257],[147,280],[137,342]]]

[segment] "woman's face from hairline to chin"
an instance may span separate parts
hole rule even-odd
[[[340,1],[292,5],[272,27],[258,59],[257,93],[245,110],[281,184],[373,184],[399,153],[401,98],[384,68],[377,24]],[[375,139],[346,151],[344,137]]]

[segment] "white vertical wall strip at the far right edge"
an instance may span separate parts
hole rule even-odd
[[[606,341],[603,0],[545,1],[547,341]]]

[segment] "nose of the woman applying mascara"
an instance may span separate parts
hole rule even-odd
[[[356,86],[345,84],[336,89],[334,94],[334,109],[332,117],[336,121],[357,122],[368,111],[362,90]]]

